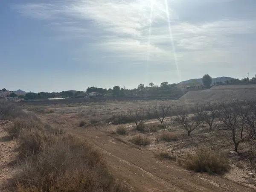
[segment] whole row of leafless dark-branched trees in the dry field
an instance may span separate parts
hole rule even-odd
[[[191,136],[191,133],[202,124],[207,124],[211,131],[228,130],[234,143],[234,151],[238,150],[240,143],[256,139],[255,101],[197,104],[189,110],[172,108],[170,105],[155,106],[152,109],[154,118],[160,122],[160,125],[163,125],[167,116],[175,114],[175,122],[187,131],[188,136]],[[133,116],[137,131],[144,130],[145,116],[152,117],[149,114],[145,115],[144,110],[137,110],[130,114]]]

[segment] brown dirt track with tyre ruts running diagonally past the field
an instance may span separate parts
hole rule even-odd
[[[59,119],[62,123],[50,116],[42,116],[42,119],[99,148],[111,173],[131,184],[135,191],[253,191],[219,176],[190,172],[172,162],[160,161],[147,149],[134,148],[96,128],[77,128],[63,116]]]

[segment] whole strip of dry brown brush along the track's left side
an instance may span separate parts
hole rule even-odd
[[[7,191],[129,191],[86,141],[45,125],[11,103],[1,102],[0,114],[13,121],[7,131],[19,143],[17,171]]]

